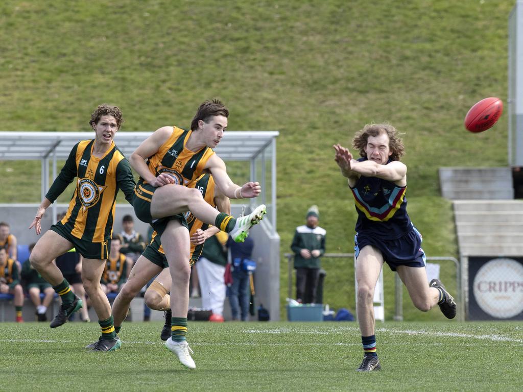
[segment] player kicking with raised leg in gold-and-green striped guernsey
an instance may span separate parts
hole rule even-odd
[[[235,185],[223,160],[212,150],[224,136],[228,117],[229,110],[220,101],[203,102],[190,130],[163,126],[130,157],[131,166],[140,175],[133,197],[134,212],[156,230],[169,264],[176,301],[171,302],[173,333],[167,347],[178,358],[190,356],[185,338],[190,277],[190,237],[185,212],[191,211],[198,220],[230,233],[240,242],[267,212],[261,204],[251,214],[235,219],[212,208],[198,189],[187,187],[204,172],[210,172],[217,187],[230,199],[255,198],[260,193],[257,182]]]

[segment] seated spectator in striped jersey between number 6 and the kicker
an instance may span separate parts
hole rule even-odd
[[[128,258],[120,253],[122,239],[120,236],[111,238],[111,252],[105,262],[104,274],[101,276],[101,289],[104,293],[118,293],[127,281]]]

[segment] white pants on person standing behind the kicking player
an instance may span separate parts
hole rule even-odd
[[[211,309],[213,314],[223,316],[226,286],[223,279],[225,267],[200,257],[196,263],[200,282],[201,307]]]

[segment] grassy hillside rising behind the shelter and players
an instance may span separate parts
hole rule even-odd
[[[356,213],[332,145],[349,145],[368,122],[388,121],[405,132],[410,215],[427,255],[457,256],[437,169],[507,163],[506,115],[482,134],[466,132],[462,121],[484,97],[506,100],[513,6],[505,0],[5,0],[0,129],[88,130],[101,102],[122,109],[122,131],[188,126],[202,100],[219,97],[231,111],[231,131],[280,132],[281,252],[289,251],[311,204],[320,207],[327,251],[350,252]],[[39,164],[0,162],[0,173],[0,202],[14,194],[18,202],[38,201]],[[324,299],[333,307],[354,309],[351,266],[324,262]],[[445,269],[447,280],[451,274]],[[388,317],[392,278],[386,268]],[[441,317],[415,312],[405,293],[406,319]]]

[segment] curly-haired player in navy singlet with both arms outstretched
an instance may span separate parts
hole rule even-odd
[[[381,368],[374,335],[374,289],[386,262],[397,271],[414,306],[427,312],[436,304],[447,318],[456,316],[456,303],[438,279],[427,284],[422,237],[408,217],[405,199],[407,167],[400,162],[404,147],[389,124],[370,124],[353,140],[360,159],[339,144],[335,161],[347,177],[358,212],[356,223],[357,312],[363,344],[358,371]]]

